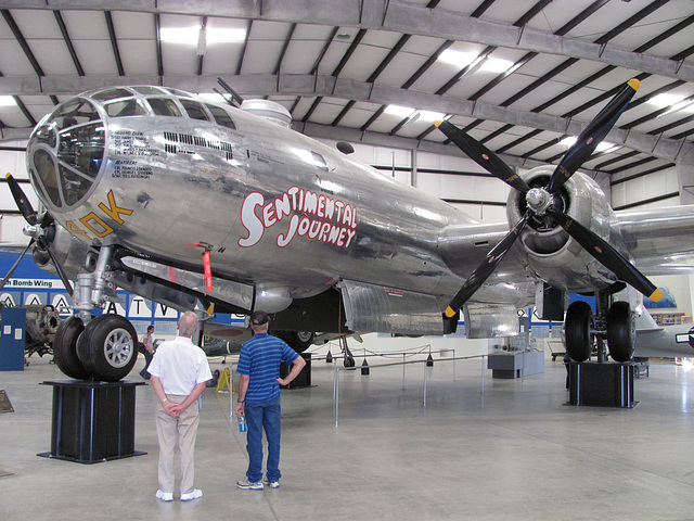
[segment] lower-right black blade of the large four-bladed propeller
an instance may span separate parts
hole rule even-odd
[[[614,272],[619,280],[627,282],[654,302],[663,298],[663,292],[607,242],[563,212],[550,207],[547,213],[556,219],[566,232],[600,264]]]

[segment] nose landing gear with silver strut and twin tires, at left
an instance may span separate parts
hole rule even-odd
[[[74,379],[116,382],[130,372],[138,359],[138,334],[127,318],[91,315],[105,302],[112,253],[111,246],[102,247],[94,272],[78,276],[73,295],[77,314],[64,320],[55,332],[55,364]]]

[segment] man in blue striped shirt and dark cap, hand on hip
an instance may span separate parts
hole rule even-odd
[[[280,385],[294,380],[306,360],[284,341],[268,334],[268,314],[256,310],[250,316],[253,338],[243,344],[236,372],[239,398],[236,415],[245,412],[248,432],[248,470],[246,480],[236,482],[239,488],[261,491],[262,484],[262,430],[268,439],[268,462],[265,482],[271,488],[280,486]],[[280,378],[282,360],[292,365],[290,373]]]

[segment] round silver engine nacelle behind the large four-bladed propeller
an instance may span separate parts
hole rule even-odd
[[[554,168],[541,166],[523,177],[530,188],[544,187]],[[591,178],[575,174],[553,195],[552,204],[628,255],[618,230],[612,227],[615,217],[605,193]],[[514,190],[506,204],[510,227],[516,225],[526,209],[525,194]],[[547,215],[531,217],[514,247],[531,275],[557,289],[580,293],[606,288],[617,280]]]

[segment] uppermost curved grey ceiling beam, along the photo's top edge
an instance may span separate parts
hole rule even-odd
[[[617,46],[568,38],[532,27],[514,27],[465,16],[441,8],[428,9],[403,0],[272,0],[261,2],[191,2],[190,0],[2,0],[8,9],[137,11],[264,20],[271,22],[386,29],[409,35],[468,41],[484,46],[591,60],[674,79],[694,81],[694,63],[670,60]]]

